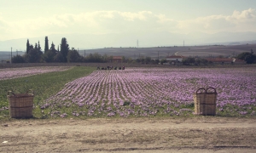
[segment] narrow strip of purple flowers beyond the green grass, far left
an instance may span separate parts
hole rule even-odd
[[[23,68],[9,68],[0,69],[0,80],[15,78],[15,77],[27,77],[36,74],[42,74],[52,71],[65,71],[70,67],[65,66],[41,66],[41,67],[23,67]]]

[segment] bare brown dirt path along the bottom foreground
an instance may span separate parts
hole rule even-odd
[[[255,152],[256,119],[120,118],[0,122],[0,152]]]

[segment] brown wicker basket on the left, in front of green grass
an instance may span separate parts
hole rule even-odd
[[[29,94],[32,93],[32,94]],[[15,94],[9,91],[9,116],[12,118],[32,117],[34,92],[28,90],[26,94]]]

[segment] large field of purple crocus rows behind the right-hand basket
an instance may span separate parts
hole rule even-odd
[[[94,71],[40,104],[67,116],[191,116],[197,88],[216,88],[218,116],[255,116],[256,68]]]

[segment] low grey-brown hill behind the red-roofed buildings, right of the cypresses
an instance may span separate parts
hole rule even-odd
[[[189,56],[223,56],[233,57],[242,52],[250,52],[251,49],[256,50],[256,43],[242,45],[202,45],[202,46],[179,46],[179,47],[154,47],[154,48],[99,48],[87,49],[85,55],[88,54],[108,54],[113,56],[125,56],[127,58],[137,59],[139,57],[149,56],[153,59],[166,58],[171,55]],[[79,51],[84,55],[84,51]]]

